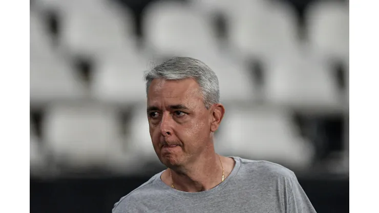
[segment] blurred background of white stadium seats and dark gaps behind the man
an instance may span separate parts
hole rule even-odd
[[[173,56],[219,78],[219,154],[287,166],[318,212],[348,212],[348,1],[30,0],[31,212],[111,212],[164,169],[143,73]]]

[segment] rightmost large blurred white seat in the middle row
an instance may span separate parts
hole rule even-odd
[[[340,107],[331,67],[306,53],[283,57],[267,65],[267,101],[297,109],[330,110]]]

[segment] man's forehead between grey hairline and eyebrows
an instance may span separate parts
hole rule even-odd
[[[193,78],[167,80],[157,78],[148,91],[148,105],[195,104],[202,102],[199,84]]]

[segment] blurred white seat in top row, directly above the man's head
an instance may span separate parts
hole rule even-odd
[[[180,2],[160,1],[143,11],[146,49],[163,56],[216,52],[216,39],[209,20]]]

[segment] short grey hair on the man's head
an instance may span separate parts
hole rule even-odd
[[[151,82],[156,78],[179,80],[194,78],[199,84],[206,109],[219,103],[220,90],[216,74],[204,62],[190,57],[174,57],[154,67],[144,75],[146,94]]]

